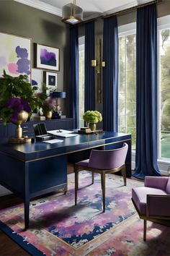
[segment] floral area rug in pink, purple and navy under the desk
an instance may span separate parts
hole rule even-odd
[[[147,242],[143,242],[143,221],[131,202],[132,187],[143,183],[128,179],[123,186],[122,177],[108,174],[102,213],[98,174],[94,181],[90,185],[89,172],[79,174],[75,206],[74,174],[69,174],[66,195],[30,202],[30,229],[23,231],[22,204],[0,211],[0,228],[31,255],[170,255],[168,227],[149,223]]]

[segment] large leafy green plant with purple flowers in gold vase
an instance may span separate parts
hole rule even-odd
[[[47,96],[45,93],[35,95],[37,87],[32,87],[30,82],[27,82],[28,77],[25,74],[12,77],[4,70],[3,77],[0,80],[0,119],[3,119],[4,125],[7,121],[17,124],[16,137],[21,139],[20,125],[27,121],[32,111],[42,106]]]

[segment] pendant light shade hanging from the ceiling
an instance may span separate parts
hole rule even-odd
[[[68,22],[72,25],[81,22],[83,20],[83,9],[76,5],[76,0],[73,4],[66,4],[62,9],[62,21]]]

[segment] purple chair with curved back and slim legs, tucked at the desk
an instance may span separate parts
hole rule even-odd
[[[105,174],[121,171],[124,185],[126,185],[125,158],[127,152],[128,144],[123,143],[122,148],[114,150],[91,150],[89,159],[75,163],[75,205],[79,189],[79,171],[88,170],[92,174],[92,184],[94,184],[94,173],[101,174],[103,212],[105,211]]]

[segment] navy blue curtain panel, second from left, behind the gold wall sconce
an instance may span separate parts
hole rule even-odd
[[[94,55],[94,21],[91,21],[85,24],[85,111],[95,109],[94,67],[91,67]]]

